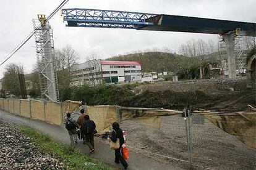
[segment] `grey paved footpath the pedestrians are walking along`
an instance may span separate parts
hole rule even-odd
[[[11,113],[7,113],[6,111],[0,110],[0,119],[6,121],[7,123],[15,123],[18,125],[26,125],[30,126],[33,129],[36,129],[40,132],[48,134],[54,139],[64,143],[70,144],[69,135],[67,130],[64,127],[56,126],[53,124],[48,124],[43,121],[38,121],[36,119],[28,119],[23,118],[21,116],[17,116]],[[76,145],[79,150],[88,155],[89,149],[87,145],[82,144],[82,140],[79,141],[79,144]],[[95,139],[95,150],[96,152],[92,154],[93,157],[111,164],[117,168],[122,168],[121,164],[114,163],[114,151],[109,149],[107,144],[104,144],[100,141],[100,139]],[[145,170],[169,170],[169,169],[181,169],[172,164],[159,163],[153,158],[148,158],[147,156],[143,156],[139,153],[135,153],[133,151],[129,151],[129,160],[127,161],[129,164],[128,169],[145,169]]]

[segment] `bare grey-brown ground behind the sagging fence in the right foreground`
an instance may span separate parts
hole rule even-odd
[[[185,121],[182,116],[166,116],[160,129],[141,126],[134,121],[122,121],[127,131],[128,147],[139,148],[142,154],[187,168],[187,163],[152,155],[147,152],[187,160]],[[256,152],[235,136],[227,134],[205,119],[204,124],[192,124],[192,161],[210,169],[255,169]],[[145,148],[146,147],[146,148]],[[144,149],[142,149],[144,148]],[[203,169],[194,166],[194,169]]]

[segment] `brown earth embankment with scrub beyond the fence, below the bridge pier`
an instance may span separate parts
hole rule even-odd
[[[135,87],[137,95],[129,105],[182,109],[186,105],[218,111],[246,110],[255,105],[255,89],[247,89],[246,79],[203,79],[169,81]]]

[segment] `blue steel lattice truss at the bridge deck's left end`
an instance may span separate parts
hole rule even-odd
[[[157,14],[98,9],[62,9],[66,26],[140,29],[153,25],[148,18]]]

